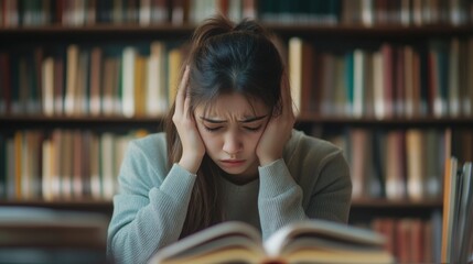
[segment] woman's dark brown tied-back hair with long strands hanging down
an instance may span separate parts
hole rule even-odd
[[[191,109],[212,106],[221,95],[240,94],[259,100],[279,114],[281,56],[269,34],[254,20],[234,24],[225,16],[205,20],[194,32],[186,65],[190,66],[187,96]],[[181,77],[183,70],[181,70]],[[172,122],[175,106],[165,122],[169,166],[182,156],[182,145]],[[197,172],[181,238],[224,220],[221,206],[219,168],[205,155]]]

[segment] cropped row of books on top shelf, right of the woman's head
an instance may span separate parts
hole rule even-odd
[[[260,0],[258,19],[289,24],[428,25],[472,23],[470,0]]]

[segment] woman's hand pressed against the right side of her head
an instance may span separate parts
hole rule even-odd
[[[277,117],[270,117],[256,147],[260,166],[282,157],[282,151],[294,127],[295,117],[292,110],[291,88],[286,72],[281,77],[281,113]]]

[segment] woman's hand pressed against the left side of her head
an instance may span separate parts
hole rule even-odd
[[[182,77],[181,84],[179,85],[178,95],[175,97],[175,110],[172,121],[174,122],[182,143],[182,156],[179,165],[187,169],[190,173],[195,174],[197,173],[197,169],[202,163],[202,158],[204,157],[205,146],[201,134],[197,131],[195,119],[189,111],[189,73],[190,67],[187,65],[185,66],[184,75]]]

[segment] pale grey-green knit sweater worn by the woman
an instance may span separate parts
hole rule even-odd
[[[166,163],[163,133],[129,144],[108,229],[107,253],[116,263],[146,263],[178,241],[196,175]],[[251,223],[264,239],[305,218],[347,222],[350,168],[333,144],[294,130],[283,158],[258,169],[259,179],[246,185],[222,177],[227,220]]]

